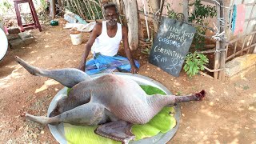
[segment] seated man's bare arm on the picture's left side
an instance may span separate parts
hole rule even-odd
[[[85,51],[82,54],[82,61],[79,66],[79,70],[85,71],[85,69],[86,69],[85,63],[86,63],[86,59],[88,58],[88,55],[90,53],[91,46],[93,46],[95,39],[101,33],[102,33],[102,23],[97,23],[94,26],[94,29],[92,30],[92,32],[90,34],[90,38],[89,38],[88,42],[86,42]]]

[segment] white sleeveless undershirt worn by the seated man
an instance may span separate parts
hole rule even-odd
[[[102,34],[94,41],[91,48],[91,53],[101,53],[106,56],[114,56],[118,54],[119,44],[122,40],[122,25],[118,23],[117,33],[113,38],[110,38],[106,31],[106,21],[102,22]]]

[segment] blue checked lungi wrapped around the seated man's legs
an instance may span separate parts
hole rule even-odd
[[[134,60],[139,67],[139,62]],[[100,53],[94,54],[94,58],[86,62],[86,74],[111,73],[114,70],[130,72],[131,66],[128,58],[120,55],[106,56]]]

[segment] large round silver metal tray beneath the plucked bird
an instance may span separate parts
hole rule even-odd
[[[161,83],[154,81],[151,78],[147,78],[145,76],[139,75],[139,74],[128,74],[128,73],[114,73],[114,74],[118,74],[120,77],[123,78],[130,78],[133,79],[135,82],[137,82],[139,85],[150,85],[150,86],[154,86],[157,87],[158,89],[164,91],[166,94],[171,94],[170,91],[163,86]],[[104,74],[95,74],[92,75],[92,78],[97,78],[100,77]],[[53,98],[53,100],[50,102],[50,106],[47,112],[47,115],[50,114],[50,112],[52,110],[54,110],[54,107],[57,105],[57,102],[60,98],[62,98],[63,96],[66,96],[66,90],[67,88],[63,88],[62,90],[60,90],[58,92],[58,94],[55,95],[55,97]],[[155,143],[155,144],[162,144],[162,143],[166,143],[168,141],[170,141],[170,139],[174,136],[174,134],[176,133],[176,131],[178,130],[178,126],[179,126],[179,120],[181,117],[181,110],[180,110],[180,106],[174,106],[175,109],[175,114],[174,114],[174,118],[176,119],[176,126],[171,129],[170,131],[168,131],[166,134],[163,133],[158,133],[157,135],[155,135],[154,137],[150,137],[150,138],[144,138],[142,140],[139,141],[131,141],[129,142],[130,144],[148,144],[148,143]],[[52,125],[48,125],[51,134],[54,135],[54,138],[61,144],[66,144],[66,138],[65,138],[65,134],[64,134],[64,126],[63,124],[59,124],[57,126],[52,126]]]

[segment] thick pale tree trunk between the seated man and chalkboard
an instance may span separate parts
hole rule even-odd
[[[131,50],[138,48],[138,12],[136,0],[124,0],[128,26],[128,40]]]

